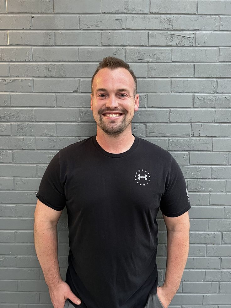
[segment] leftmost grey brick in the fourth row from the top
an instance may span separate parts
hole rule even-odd
[[[30,47],[2,47],[0,61],[31,61],[32,48]]]

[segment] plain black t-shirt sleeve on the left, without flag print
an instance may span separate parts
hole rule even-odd
[[[47,166],[36,197],[56,211],[61,211],[65,207],[66,197],[60,180],[59,152]]]

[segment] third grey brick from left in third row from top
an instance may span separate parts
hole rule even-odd
[[[100,45],[100,33],[81,31],[57,31],[55,32],[56,45]]]

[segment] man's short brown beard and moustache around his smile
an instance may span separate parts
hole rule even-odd
[[[114,121],[114,120],[111,120],[110,122],[106,123],[104,121],[104,118],[103,118],[104,116],[102,115],[102,113],[104,113],[106,111],[110,111],[110,110],[108,110],[108,109],[99,109],[99,111],[98,111],[99,122],[97,123],[97,125],[99,126],[99,128],[102,129],[103,132],[105,132],[109,136],[118,136],[132,122],[132,119],[131,119],[131,121],[127,120],[127,111],[126,111],[126,109],[121,109],[121,110],[116,110],[118,112],[123,113],[123,118],[122,118],[120,123],[117,124],[116,121]],[[111,110],[111,111],[115,111],[115,110]]]

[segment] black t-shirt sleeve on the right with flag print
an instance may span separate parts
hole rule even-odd
[[[171,156],[171,167],[161,197],[160,210],[168,217],[177,217],[191,208],[183,173],[176,160]]]

